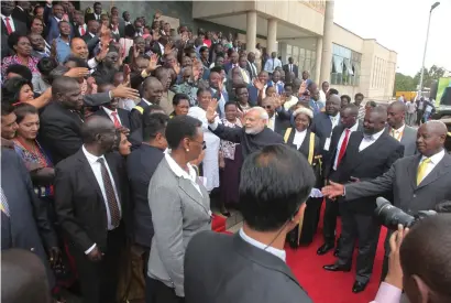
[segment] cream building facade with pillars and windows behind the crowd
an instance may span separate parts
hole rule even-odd
[[[101,1],[120,7],[132,18],[160,10],[172,24],[196,31],[238,33],[246,50],[256,43],[277,52],[284,64],[293,57],[318,84],[327,80],[341,95],[356,93],[375,100],[389,99],[396,73],[396,52],[374,39],[363,39],[333,23],[334,1]],[[81,2],[81,9],[90,2]]]

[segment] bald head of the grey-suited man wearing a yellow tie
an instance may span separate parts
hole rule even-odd
[[[447,126],[439,120],[421,125],[417,132],[417,149],[426,156],[432,156],[443,150],[447,140]]]

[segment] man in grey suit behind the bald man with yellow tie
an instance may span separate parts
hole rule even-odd
[[[404,145],[404,156],[409,156],[418,153],[417,130],[406,125],[406,105],[402,101],[394,101],[388,106],[387,131]]]

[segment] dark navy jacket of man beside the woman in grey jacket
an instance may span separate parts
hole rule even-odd
[[[152,213],[148,207],[148,183],[163,158],[162,150],[141,144],[127,159],[131,204],[133,205],[133,238],[135,242],[147,248],[151,248],[154,235]]]

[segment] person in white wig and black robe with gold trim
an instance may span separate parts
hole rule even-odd
[[[314,112],[309,108],[300,107],[295,110],[293,117],[294,127],[285,131],[284,141],[307,158],[317,177],[316,188],[320,190],[322,187],[320,142],[318,136],[310,131]],[[314,240],[321,203],[322,197],[308,198],[302,223],[287,235],[287,241],[293,248],[309,245]]]

